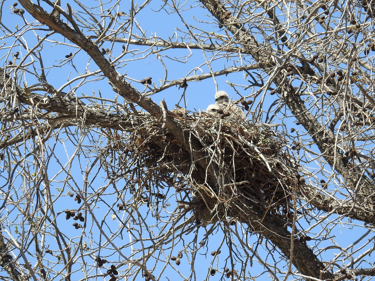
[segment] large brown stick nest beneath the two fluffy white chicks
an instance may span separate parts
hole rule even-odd
[[[207,167],[202,167],[194,152],[189,153],[184,144],[162,129],[162,120],[149,116],[131,118],[133,132],[109,134],[104,154],[117,151],[119,161],[112,161],[111,165],[107,161],[105,167],[113,178],[125,176],[129,182],[142,182],[143,191],[148,193],[142,198],[147,202],[152,198],[164,200],[163,189],[169,186],[181,193],[178,207],[192,210],[198,224],[212,223],[224,216],[235,219],[228,206],[239,198],[249,207],[256,205],[263,218],[287,223],[293,217],[292,194],[304,184],[304,179],[280,133],[231,118],[174,117],[187,142],[195,139],[201,144],[200,152],[207,163]],[[241,220],[240,216],[237,218]]]

